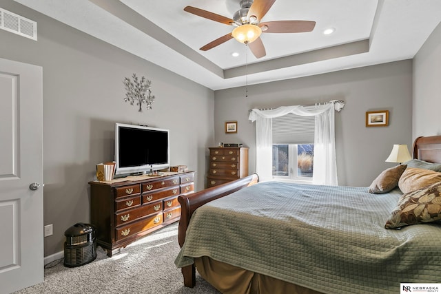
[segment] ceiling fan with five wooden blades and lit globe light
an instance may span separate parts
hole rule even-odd
[[[274,2],[276,0],[241,0],[240,9],[234,13],[232,19],[192,6],[185,7],[184,11],[236,27],[232,32],[204,45],[200,50],[210,50],[234,38],[248,45],[254,56],[260,58],[267,54],[260,39],[261,33],[311,32],[316,25],[315,21],[265,21],[261,23],[260,20],[267,14]]]

